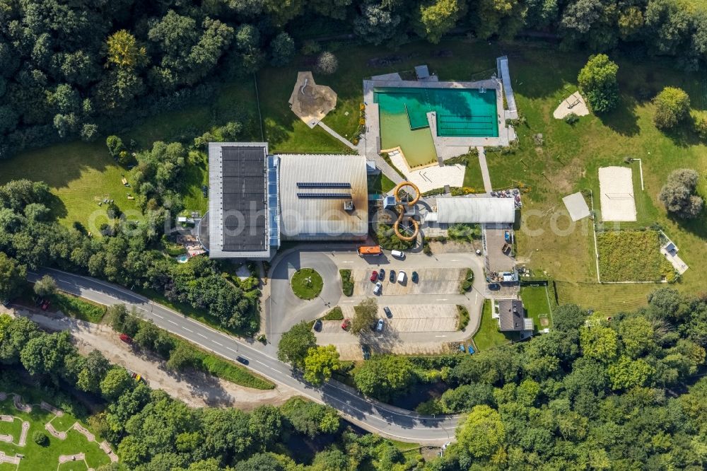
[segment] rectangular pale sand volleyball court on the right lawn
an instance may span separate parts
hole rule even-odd
[[[636,221],[633,173],[626,167],[599,169],[602,221]]]

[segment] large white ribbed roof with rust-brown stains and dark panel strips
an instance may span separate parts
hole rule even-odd
[[[284,154],[276,158],[279,158],[282,238],[366,239],[365,156]]]

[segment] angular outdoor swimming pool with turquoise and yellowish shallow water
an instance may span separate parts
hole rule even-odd
[[[411,167],[437,160],[427,113],[439,136],[497,137],[496,91],[459,88],[375,88],[381,149],[400,146]]]

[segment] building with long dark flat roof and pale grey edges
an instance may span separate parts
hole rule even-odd
[[[267,259],[279,247],[277,178],[267,143],[209,143],[209,212],[199,223],[209,257]]]

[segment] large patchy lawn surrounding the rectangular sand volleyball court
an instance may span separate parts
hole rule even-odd
[[[528,267],[547,271],[558,281],[560,303],[578,303],[607,313],[645,305],[645,296],[655,285],[596,284],[591,221],[573,223],[561,202],[567,194],[589,189],[595,195],[595,209],[600,211],[598,168],[626,165],[624,158],[631,156],[641,158],[643,164],[645,190],[641,190],[638,162],[630,164],[638,221],[604,228],[633,229],[659,223],[687,264],[699,267],[707,262],[706,216],[688,223],[677,221],[667,216],[658,202],[660,187],[674,168],[707,171],[707,147],[691,132],[666,135],[658,131],[652,121],[653,104],[638,98],[646,89],[652,96],[664,86],[679,86],[689,93],[694,111],[703,112],[707,109],[703,76],[684,74],[667,62],[636,63],[612,57],[619,64],[619,107],[606,116],[581,117],[571,126],[554,120],[552,112],[576,90],[576,77],[587,54],[525,45],[514,52],[510,59],[513,91],[527,125],[517,129],[518,151],[510,155],[489,151],[486,159],[493,187],[518,182],[532,187],[523,196],[518,259]],[[543,134],[542,146],[535,145],[534,134]],[[707,194],[707,180],[701,179],[699,192]],[[602,270],[602,279],[611,279],[607,276]],[[697,293],[702,283],[699,270],[689,269],[674,286]]]

